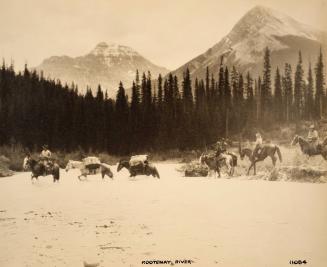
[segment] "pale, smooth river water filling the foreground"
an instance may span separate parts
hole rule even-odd
[[[327,184],[185,178],[0,179],[0,266],[327,266]],[[158,265],[163,266],[163,265]]]

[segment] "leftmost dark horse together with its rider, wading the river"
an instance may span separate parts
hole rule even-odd
[[[43,150],[45,150],[45,149],[43,149]],[[44,154],[42,152],[41,152],[41,155],[44,156]],[[27,171],[28,169],[31,169],[31,172],[32,172],[31,180],[32,181],[33,181],[33,178],[38,180],[39,176],[47,176],[47,175],[53,176],[53,182],[59,181],[60,167],[56,162],[54,162],[50,157],[48,157],[48,155],[49,154],[47,154],[47,157],[40,157],[39,160],[35,160],[31,157],[31,155],[29,153],[26,154],[26,156],[24,158],[24,162],[23,162],[23,169],[25,171]],[[51,154],[50,154],[50,156],[51,156]]]

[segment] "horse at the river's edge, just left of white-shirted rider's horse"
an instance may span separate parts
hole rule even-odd
[[[235,159],[236,158],[236,159]],[[220,168],[225,165],[227,167],[227,173],[229,176],[233,176],[235,166],[237,165],[237,157],[228,153],[219,153],[218,155],[208,155],[202,153],[200,157],[200,163],[206,164],[210,170],[215,171],[215,175],[220,176]]]

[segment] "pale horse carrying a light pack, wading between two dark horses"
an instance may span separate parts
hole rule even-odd
[[[102,163],[97,157],[87,157],[82,161],[69,160],[66,165],[66,172],[70,169],[79,169],[81,174],[78,176],[78,179],[81,180],[81,176],[87,178],[87,175],[101,173],[102,179],[107,175],[113,179],[114,175],[108,164]]]

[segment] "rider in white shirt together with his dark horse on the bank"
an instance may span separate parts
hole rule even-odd
[[[252,167],[254,175],[256,175],[256,163],[259,161],[263,161],[267,157],[271,158],[273,166],[275,167],[277,161],[277,157],[275,156],[276,153],[278,155],[279,161],[282,162],[282,154],[280,152],[279,147],[274,144],[263,144],[261,134],[259,133],[256,134],[255,148],[253,151],[251,148],[242,148],[241,142],[239,142],[239,154],[241,160],[243,160],[244,157],[247,156],[251,162],[250,167],[247,171],[247,175],[249,175]]]

